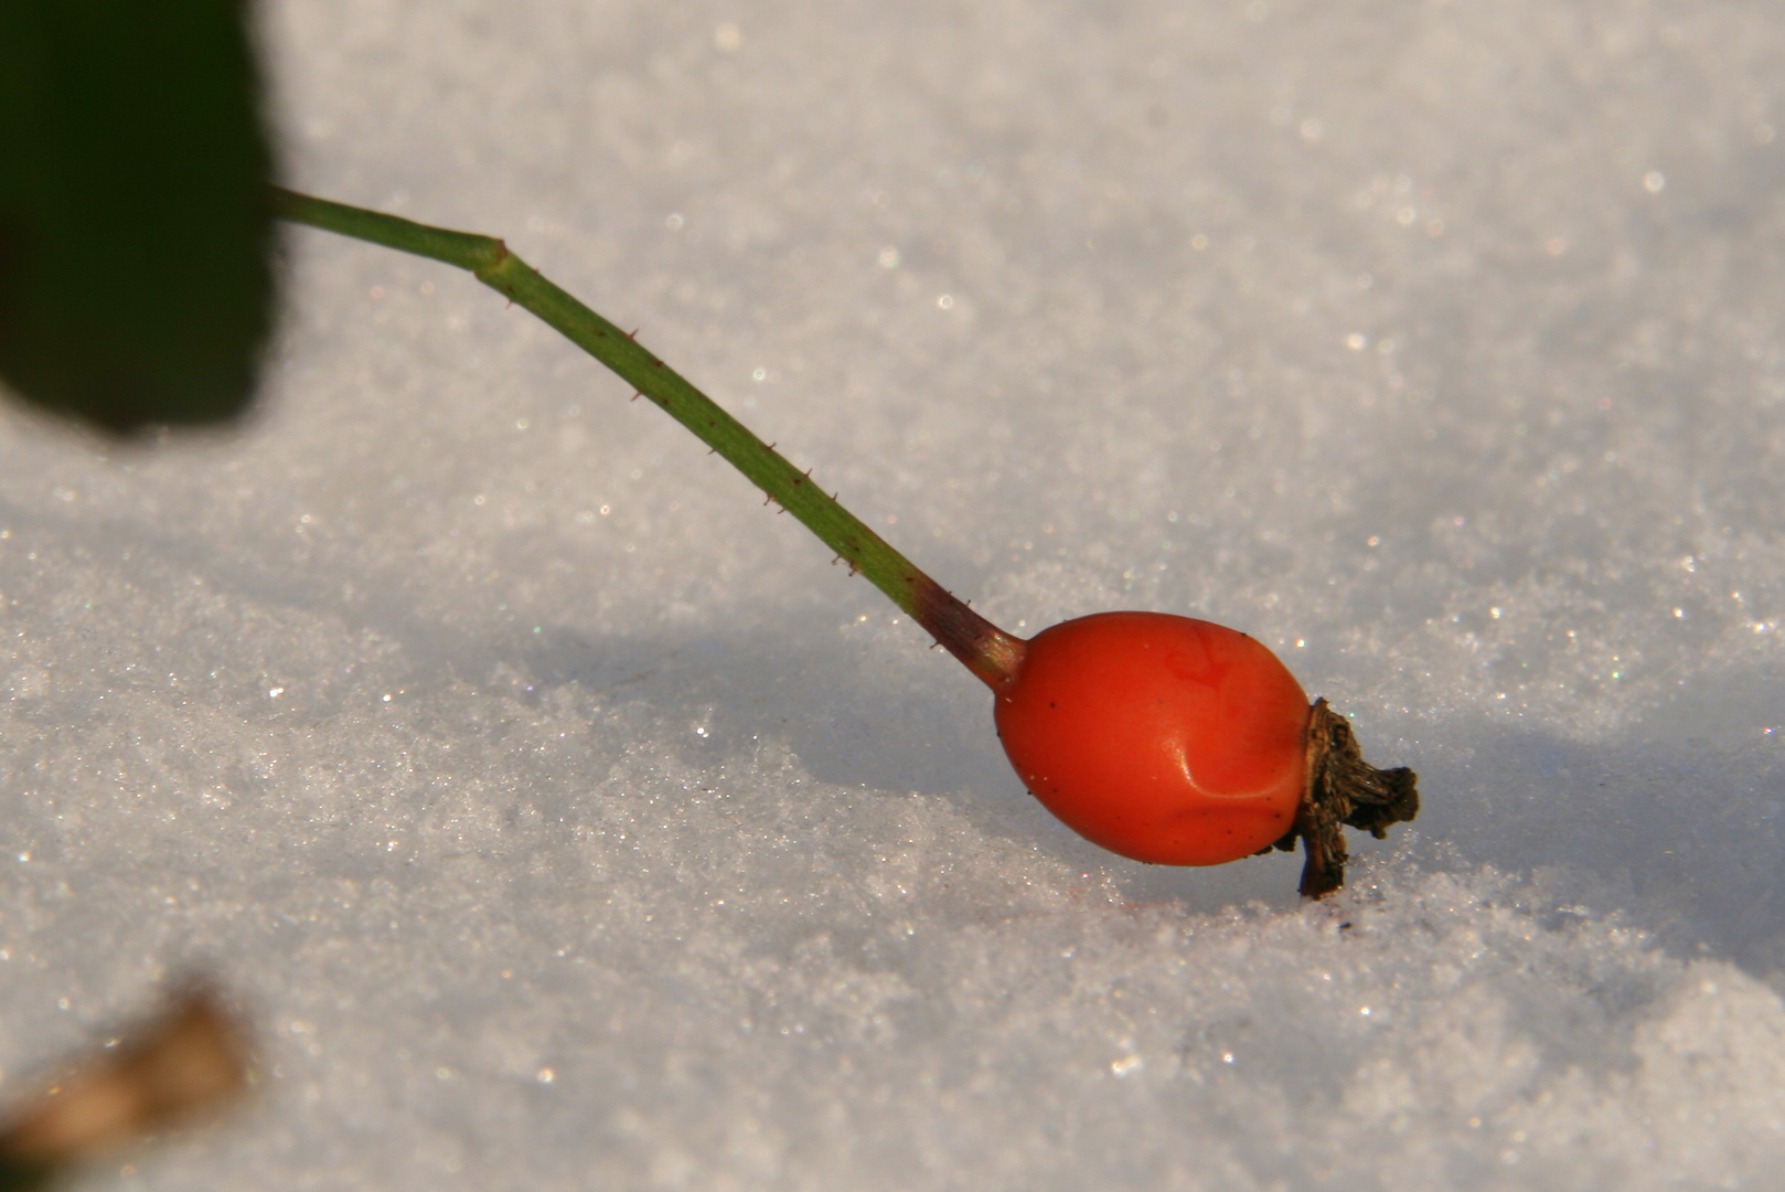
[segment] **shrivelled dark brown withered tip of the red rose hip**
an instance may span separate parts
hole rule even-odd
[[[1391,824],[1412,822],[1416,815],[1419,777],[1407,767],[1378,770],[1364,761],[1346,718],[1324,699],[1314,701],[1308,709],[1308,777],[1296,810],[1296,826],[1271,845],[1289,852],[1301,842],[1307,852],[1301,895],[1319,899],[1344,885],[1349,852],[1341,826],[1382,840]]]

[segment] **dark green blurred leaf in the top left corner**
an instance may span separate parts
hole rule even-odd
[[[270,152],[243,0],[0,0],[0,382],[112,431],[252,395]]]

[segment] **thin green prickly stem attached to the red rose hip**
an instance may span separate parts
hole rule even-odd
[[[880,534],[837,504],[744,424],[719,409],[705,393],[652,356],[634,336],[619,331],[582,302],[553,286],[507,245],[491,236],[452,232],[412,223],[393,214],[348,207],[273,188],[273,211],[282,220],[309,223],[328,232],[384,245],[400,252],[457,264],[511,302],[527,307],[566,340],[685,425],[707,447],[744,474],[769,500],[800,518],[818,538],[910,613],[950,654],[992,690],[1016,676],[1025,642],[991,624],[942,590]]]

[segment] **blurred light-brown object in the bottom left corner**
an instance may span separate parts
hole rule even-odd
[[[11,1106],[0,1122],[0,1163],[50,1172],[203,1122],[241,1097],[248,1065],[241,1024],[214,990],[187,985],[114,1049],[77,1062],[66,1078]]]

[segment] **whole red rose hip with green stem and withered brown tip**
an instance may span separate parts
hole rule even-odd
[[[1069,827],[1160,865],[1219,865],[1307,849],[1301,892],[1344,883],[1341,824],[1382,836],[1414,818],[1412,770],[1376,770],[1351,726],[1314,701],[1271,651],[1235,629],[1164,613],[1100,613],[1034,642],[942,590],[771,443],[750,432],[619,327],[489,236],[275,188],[275,211],[471,270],[625,377],[794,515],[996,695],[1010,763]]]

